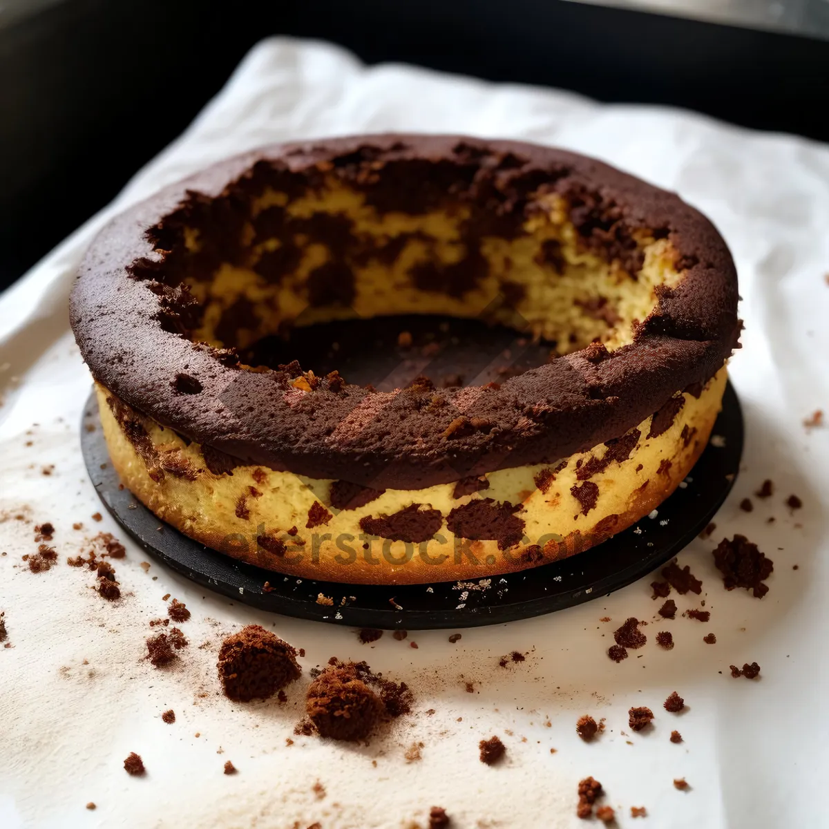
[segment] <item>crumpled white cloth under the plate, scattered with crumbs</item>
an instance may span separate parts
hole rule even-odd
[[[675,597],[675,621],[652,620],[657,603],[645,579],[545,618],[464,631],[456,644],[447,641],[451,632],[430,632],[405,642],[386,634],[369,647],[348,630],[206,594],[126,539],[128,558],[116,562],[119,604],[90,589],[91,574],[65,565],[96,531],[123,536],[108,516],[90,519],[103,510],[78,442],[90,379],[68,330],[66,298],[91,237],[128,204],[226,155],[385,130],[527,138],[588,153],[679,191],[725,235],[744,297],[744,348],[731,366],[746,417],[744,468],[712,540],[681,555],[704,593]],[[303,829],[318,821],[367,829],[425,826],[429,807],[439,805],[462,829],[570,827],[580,825],[575,791],[587,775],[604,783],[622,826],[631,806],[647,807],[642,826],[825,826],[829,430],[807,433],[802,419],[829,409],[827,227],[829,149],[817,143],[557,90],[401,65],[367,69],[315,42],[259,44],[182,138],[0,298],[0,612],[13,646],[0,647],[0,826]],[[775,495],[755,499],[750,514],[739,511],[764,478]],[[793,515],[783,504],[790,493],[804,503]],[[15,520],[20,512],[32,523]],[[60,558],[50,572],[32,574],[21,557],[36,551],[32,527],[40,521],[56,526]],[[83,530],[71,529],[75,521]],[[726,593],[712,565],[713,544],[734,532],[774,560],[762,600]],[[182,625],[191,646],[177,671],[142,659],[148,622],[164,615],[167,593],[193,611]],[[710,623],[681,617],[699,599]],[[649,642],[616,665],[605,651],[628,616],[651,620]],[[409,681],[415,715],[366,748],[294,737],[301,683],[285,705],[231,705],[216,693],[216,651],[224,633],[250,622],[304,647],[306,676],[336,654]],[[671,652],[654,642],[663,629],[674,633]],[[702,641],[709,632],[713,646]],[[499,667],[513,649],[528,652],[526,662]],[[754,661],[759,681],[730,677],[730,663]],[[674,690],[689,706],[680,716],[662,710]],[[631,734],[631,705],[656,712],[651,733]],[[167,708],[175,725],[160,720]],[[607,718],[594,744],[574,731],[585,713]],[[668,741],[672,729],[684,743]],[[507,744],[507,762],[487,768],[478,740],[492,734]],[[422,759],[407,762],[419,742]],[[130,751],[143,756],[147,778],[124,773]],[[225,759],[240,773],[225,777]],[[680,777],[689,792],[673,787]],[[317,780],[325,797],[312,791]],[[85,809],[90,801],[95,812]]]

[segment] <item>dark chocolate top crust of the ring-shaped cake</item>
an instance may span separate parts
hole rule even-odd
[[[381,393],[338,382],[336,390],[323,383],[313,394],[286,387],[282,372],[240,370],[225,353],[167,330],[175,326],[159,314],[150,280],[133,278],[136,264],[152,271],[162,263],[148,228],[188,198],[221,196],[232,207],[257,176],[274,170],[310,175],[322,165],[351,183],[369,163],[394,168],[395,162],[459,165],[468,172],[468,197],[486,196],[494,205],[494,235],[520,225],[531,211],[528,194],[539,188],[565,197],[584,245],[609,256],[631,255],[619,226],[649,228],[670,240],[684,278],[675,288],[657,288],[657,306],[630,345],[576,351],[499,388]],[[397,191],[373,191],[372,203],[386,210],[428,209],[422,200],[384,203]],[[391,134],[263,148],[133,206],[87,252],[70,298],[70,320],[97,381],[230,461],[375,489],[415,489],[555,463],[625,434],[677,391],[705,383],[720,369],[738,347],[737,300],[737,276],[724,240],[675,194],[562,150]],[[474,418],[487,429],[448,439],[458,413],[468,410],[470,392],[476,396]],[[427,410],[424,402],[435,395],[446,405]]]

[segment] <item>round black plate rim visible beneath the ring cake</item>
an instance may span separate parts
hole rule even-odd
[[[725,501],[734,485],[743,453],[743,414],[731,384],[723,409],[685,485],[659,507],[592,550],[522,573],[492,576],[488,586],[436,582],[377,587],[282,576],[245,565],[193,541],[160,522],[126,489],[109,463],[99,424],[98,405],[90,396],[80,443],[86,468],[104,506],[150,555],[187,579],[255,608],[288,616],[356,628],[471,628],[511,622],[572,607],[625,587],[647,575],[692,541]],[[263,585],[269,581],[270,592]],[[485,579],[486,581],[486,579]],[[469,584],[474,584],[470,589]],[[319,594],[334,605],[317,604]],[[344,600],[344,602],[343,602]]]

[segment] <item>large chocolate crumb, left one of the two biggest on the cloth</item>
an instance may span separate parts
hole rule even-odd
[[[225,696],[236,702],[266,700],[298,679],[296,650],[274,633],[251,624],[221,643],[216,667]]]

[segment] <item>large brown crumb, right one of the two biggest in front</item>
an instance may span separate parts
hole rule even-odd
[[[306,710],[322,737],[365,739],[380,723],[381,699],[359,674],[355,663],[335,661],[308,687]]]

